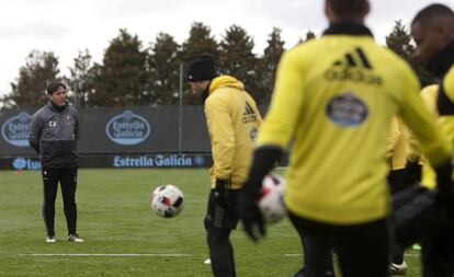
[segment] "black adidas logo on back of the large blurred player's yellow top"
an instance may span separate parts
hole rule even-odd
[[[332,67],[325,71],[324,77],[327,81],[351,81],[372,85],[383,83],[382,77],[373,71],[373,66],[361,47],[337,59]]]

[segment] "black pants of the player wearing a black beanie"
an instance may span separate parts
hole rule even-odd
[[[208,209],[205,217],[205,229],[212,272],[216,277],[235,277],[234,247],[230,243],[230,232],[237,227],[239,217],[236,210],[238,191],[229,189],[231,206],[226,208],[218,205],[214,191],[209,193]]]

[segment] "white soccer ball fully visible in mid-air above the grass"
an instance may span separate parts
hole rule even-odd
[[[160,217],[171,218],[183,209],[184,195],[174,185],[160,185],[151,193],[151,209]]]

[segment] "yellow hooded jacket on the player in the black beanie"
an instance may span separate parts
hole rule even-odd
[[[256,101],[237,79],[217,77],[209,84],[205,116],[214,160],[212,187],[219,178],[229,181],[232,189],[240,188],[249,171],[253,141],[262,123]]]

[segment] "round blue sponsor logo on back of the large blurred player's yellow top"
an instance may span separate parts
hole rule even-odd
[[[345,92],[332,97],[326,113],[337,125],[353,127],[362,124],[368,114],[367,105],[352,92]]]

